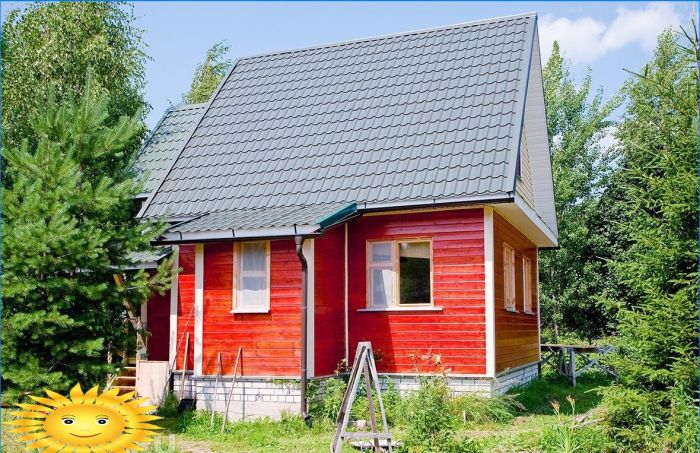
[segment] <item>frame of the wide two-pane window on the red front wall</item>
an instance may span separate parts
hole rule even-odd
[[[430,302],[424,304],[402,304],[401,303],[401,285],[400,285],[400,275],[399,275],[399,243],[401,242],[427,242],[428,247],[430,247]],[[372,303],[372,270],[373,269],[386,269],[384,263],[378,264],[372,262],[372,245],[373,244],[391,244],[391,272],[392,272],[392,294],[394,296],[393,300],[389,303],[387,307],[375,307]],[[392,310],[392,309],[405,309],[409,310],[415,308],[417,310],[434,307],[434,290],[433,290],[433,240],[432,238],[407,238],[407,239],[376,239],[368,240],[365,252],[365,268],[367,270],[365,276],[365,286],[366,286],[366,304],[367,309],[374,310]]]

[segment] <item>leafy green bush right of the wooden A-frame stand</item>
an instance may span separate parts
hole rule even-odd
[[[469,439],[456,436],[459,418],[452,411],[447,380],[421,379],[418,391],[406,399],[406,436],[403,450],[422,452],[468,452],[476,449]]]

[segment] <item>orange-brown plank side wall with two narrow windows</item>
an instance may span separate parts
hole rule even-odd
[[[494,283],[496,372],[535,362],[540,358],[537,312],[537,247],[503,217],[494,212]],[[515,250],[515,309],[505,309],[503,244]],[[532,314],[524,312],[523,256],[532,261]]]

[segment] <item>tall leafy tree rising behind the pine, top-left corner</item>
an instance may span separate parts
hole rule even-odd
[[[10,11],[2,24],[3,145],[36,145],[31,124],[53,86],[58,101],[79,97],[92,69],[95,95],[108,95],[107,124],[138,114],[138,149],[146,127],[142,32],[128,5],[114,2],[36,2]],[[99,87],[99,88],[98,88]]]

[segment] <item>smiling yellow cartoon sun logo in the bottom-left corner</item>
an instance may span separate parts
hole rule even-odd
[[[51,390],[49,398],[30,396],[40,404],[17,404],[24,411],[11,412],[18,418],[7,422],[20,433],[27,449],[46,453],[58,451],[125,452],[143,450],[139,442],[150,442],[159,426],[147,422],[162,417],[148,415],[155,406],[141,406],[148,398],[132,399],[134,392],[119,395],[110,389],[98,395],[97,386],[83,393],[80,384],[70,399]]]

